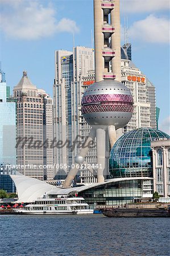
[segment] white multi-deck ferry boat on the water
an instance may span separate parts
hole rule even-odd
[[[93,209],[89,209],[89,205],[82,197],[49,198],[44,195],[43,198],[37,199],[22,209],[14,209],[14,212],[19,214],[92,214]]]

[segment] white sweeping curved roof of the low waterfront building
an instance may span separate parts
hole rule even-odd
[[[106,180],[101,183],[93,183],[90,185],[83,185],[81,187],[74,188],[56,188],[53,185],[45,183],[44,181],[27,177],[24,175],[10,175],[13,179],[16,190],[18,192],[18,201],[15,203],[32,203],[38,197],[43,197],[46,193],[47,195],[68,195],[77,192],[85,191],[89,188],[98,187],[99,185],[109,184],[112,182],[123,181],[123,180],[151,180],[150,177],[123,177],[117,179]]]

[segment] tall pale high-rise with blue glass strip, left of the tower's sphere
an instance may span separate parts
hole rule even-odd
[[[53,85],[53,125],[57,141],[73,143],[78,135],[78,107],[81,90],[77,84],[81,76],[94,69],[94,53],[91,48],[73,47],[73,52],[55,51],[55,82]],[[55,147],[54,159],[59,165],[56,179],[65,179],[72,165],[73,150]],[[65,167],[66,166],[66,167]],[[69,167],[68,167],[69,166]]]

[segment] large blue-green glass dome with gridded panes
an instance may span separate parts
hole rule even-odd
[[[157,129],[142,127],[124,134],[110,152],[109,171],[115,177],[152,177],[151,141],[170,139]]]

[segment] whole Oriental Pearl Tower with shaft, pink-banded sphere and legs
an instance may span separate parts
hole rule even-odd
[[[121,36],[119,0],[94,0],[94,46],[96,82],[82,97],[82,115],[92,126],[88,139],[75,158],[63,187],[69,187],[76,176],[78,164],[85,164],[90,142],[96,137],[97,180],[105,180],[106,147],[112,147],[120,128],[126,126],[133,112],[130,90],[121,82]]]

